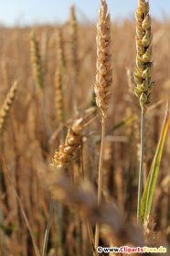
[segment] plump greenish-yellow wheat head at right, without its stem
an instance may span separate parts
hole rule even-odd
[[[136,11],[136,68],[134,70],[134,88],[139,98],[142,109],[150,103],[151,91],[154,86],[152,81],[152,31],[149,3],[139,0]]]

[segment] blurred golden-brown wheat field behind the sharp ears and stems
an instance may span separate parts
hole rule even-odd
[[[88,183],[85,187],[85,191],[90,191],[93,202],[92,195],[97,191],[98,182],[101,120],[96,110],[85,112],[92,106],[95,108],[93,88],[96,74],[96,26],[79,23],[77,26],[76,59],[72,54],[74,42],[71,40],[70,22],[53,27],[0,27],[1,106],[7,92],[17,80],[16,99],[6,120],[5,131],[2,136],[0,135],[0,255],[37,255],[22,208],[41,255],[51,197],[43,176],[46,174],[46,179],[48,178],[48,166],[52,162],[55,150],[64,142],[67,128],[71,127],[75,119],[83,116],[87,117],[88,125],[84,125],[82,144],[76,152],[74,161],[66,168],[67,177],[57,176],[57,180],[54,178],[54,183],[50,184],[54,190],[56,189],[54,197],[58,197],[58,201],[54,204],[48,255],[92,255],[86,218],[91,221],[92,229],[95,221],[103,221],[109,225],[110,219],[114,218],[112,208],[108,208],[108,211],[106,208],[107,219],[103,214],[103,208],[99,208],[95,203],[92,208],[93,203],[89,202],[90,195],[79,190],[83,173],[85,179],[90,180],[93,185],[91,188]],[[152,27],[155,87],[152,103],[146,115],[144,179],[154,157],[164,119],[165,102],[169,100],[170,95],[170,24],[166,20],[154,20]],[[41,57],[43,90],[37,90],[31,64],[30,32],[33,30]],[[58,30],[62,33],[61,46],[64,53],[61,71],[64,105],[62,122],[58,120],[55,106],[55,77],[60,65]],[[131,225],[136,219],[140,145],[140,108],[133,93],[131,79],[135,67],[135,54],[135,23],[131,20],[123,20],[120,24],[113,23],[113,85],[106,122],[108,135],[103,155],[102,199],[103,204],[109,206],[112,205],[112,201],[115,202],[120,212],[123,212],[124,223]],[[144,239],[147,245],[165,245],[167,248],[170,246],[169,155],[168,133],[151,219],[143,230],[144,238],[141,230],[136,234],[139,240],[142,236],[141,244]],[[68,184],[65,192],[65,186],[62,187],[63,179],[64,184]],[[74,187],[77,187],[77,193]],[[111,226],[114,227],[114,224]],[[132,234],[131,230],[124,234],[122,227],[120,224],[119,232],[113,228],[112,232],[105,229],[101,231],[103,234],[100,244],[109,246],[110,238],[112,246],[123,245],[123,242],[135,244],[133,229]]]

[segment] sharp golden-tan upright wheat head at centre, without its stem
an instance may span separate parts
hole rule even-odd
[[[96,103],[105,115],[108,109],[108,100],[112,85],[112,63],[111,63],[111,20],[108,14],[108,7],[104,0],[101,0],[99,22],[97,24],[97,74],[94,91]]]

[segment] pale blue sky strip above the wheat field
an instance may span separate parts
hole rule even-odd
[[[7,26],[63,22],[76,5],[82,21],[94,21],[100,0],[0,0],[0,23]],[[138,0],[108,0],[112,18],[133,17]],[[170,0],[150,0],[152,15],[170,16]]]

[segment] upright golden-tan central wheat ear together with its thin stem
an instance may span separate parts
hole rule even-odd
[[[97,74],[94,91],[96,93],[96,104],[101,109],[101,155],[99,165],[98,181],[98,203],[101,203],[102,187],[102,156],[105,136],[105,117],[110,99],[110,88],[112,85],[112,61],[111,61],[111,20],[108,14],[108,7],[104,0],[101,0],[99,22],[97,24]],[[96,225],[95,248],[99,245],[99,225]]]

